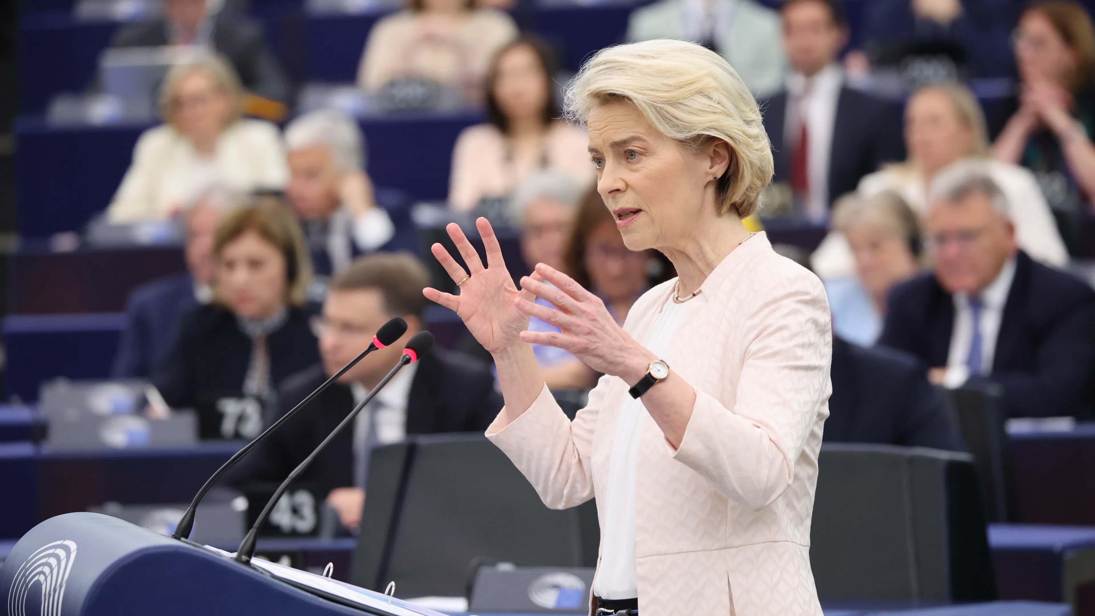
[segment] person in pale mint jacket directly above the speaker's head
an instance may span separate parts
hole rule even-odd
[[[786,58],[773,45],[780,39],[780,16],[753,0],[658,0],[631,14],[626,38],[699,43],[726,58],[754,96],[783,84]]]

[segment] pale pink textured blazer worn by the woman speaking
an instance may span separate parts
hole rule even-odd
[[[673,281],[643,295],[624,329],[643,340]],[[707,303],[662,357],[695,388],[680,448],[646,422],[635,488],[644,616],[819,615],[810,516],[829,415],[829,307],[814,274],[742,243],[703,283]],[[487,436],[553,509],[606,494],[627,385],[601,377],[572,422],[546,388]],[[603,499],[597,499],[606,520]],[[603,535],[603,533],[602,533]]]

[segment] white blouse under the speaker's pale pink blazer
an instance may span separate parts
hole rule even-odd
[[[690,309],[706,303],[703,294],[683,304],[672,297],[661,307],[650,330],[643,339],[643,346],[661,357],[669,352],[677,327]],[[669,366],[672,369],[672,366]],[[657,386],[655,386],[657,387]],[[653,421],[642,398],[629,397],[620,413],[612,456],[609,465],[607,518],[602,527],[601,562],[593,592],[606,600],[635,598],[638,596],[638,573],[635,566],[635,482],[638,481],[638,443],[643,425]],[[670,503],[666,503],[669,505]]]

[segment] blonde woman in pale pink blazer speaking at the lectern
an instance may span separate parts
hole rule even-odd
[[[486,219],[485,267],[450,225],[468,270],[433,252],[460,293],[425,294],[494,355],[506,407],[487,436],[548,506],[597,498],[591,614],[821,614],[809,543],[829,308],[817,277],[741,223],[772,176],[757,103],[717,54],[662,39],[598,53],[567,109],[627,248],[660,250],[679,277],[620,327],[548,265],[518,289]],[[562,331],[527,331],[530,316]],[[533,343],[606,375],[574,421]]]

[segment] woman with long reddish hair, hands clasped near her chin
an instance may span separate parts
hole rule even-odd
[[[1015,32],[1019,94],[992,146],[1035,172],[1049,204],[1091,210],[1095,198],[1095,31],[1079,2],[1036,2]],[[1081,216],[1082,217],[1082,216]]]

